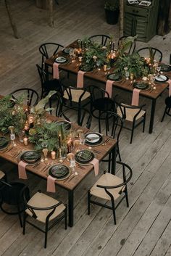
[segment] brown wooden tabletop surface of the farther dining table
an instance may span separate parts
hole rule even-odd
[[[77,48],[77,41],[74,41],[72,44],[70,44],[69,46],[67,46],[69,48]],[[66,48],[67,48],[66,47]],[[65,70],[68,71],[70,73],[75,73],[77,74],[79,71],[79,65],[80,62],[78,61],[78,59],[75,59],[75,62],[72,62],[70,59],[70,55],[69,54],[64,54],[63,51],[59,51],[57,53],[57,55],[55,55],[54,57],[50,57],[49,59],[46,59],[45,64],[48,66],[52,66],[55,59],[57,57],[60,56],[64,56],[68,59],[68,62],[65,64],[60,64],[59,65],[59,69],[60,70]],[[114,72],[114,67],[112,67],[110,70],[107,70],[109,73],[113,73]],[[167,75],[169,78],[171,78],[171,72],[167,72],[167,73],[163,73],[164,75]],[[106,83],[107,82],[107,75],[105,74],[104,70],[97,70],[94,69],[91,72],[86,72],[84,74],[84,76],[86,78],[91,78],[93,80],[97,80],[101,83]],[[122,80],[116,82],[113,82],[113,86],[117,87],[117,88],[121,88],[125,91],[133,91],[133,86],[130,83],[130,80],[125,80],[125,78],[123,78]],[[162,94],[162,92],[168,87],[168,83],[155,83],[156,89],[152,90],[152,91],[140,91],[140,94],[142,96],[145,96],[147,98],[150,99],[157,99],[159,97],[159,95]]]

